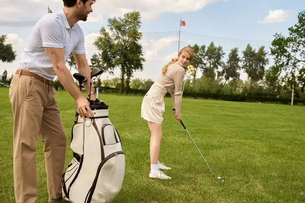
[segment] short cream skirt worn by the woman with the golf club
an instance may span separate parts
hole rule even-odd
[[[141,117],[147,121],[162,124],[165,112],[164,96],[167,93],[165,87],[155,82],[145,94],[142,106]]]

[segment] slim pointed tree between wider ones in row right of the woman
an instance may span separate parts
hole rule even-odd
[[[240,70],[240,57],[238,56],[238,48],[231,49],[229,53],[229,58],[227,60],[227,64],[224,66],[221,74],[225,77],[225,82],[223,86],[226,84],[227,81],[231,79],[238,80]]]

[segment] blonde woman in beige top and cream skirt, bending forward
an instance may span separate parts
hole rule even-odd
[[[148,121],[151,132],[150,137],[150,178],[171,179],[161,170],[170,170],[170,167],[159,162],[160,145],[162,140],[162,121],[165,111],[164,96],[168,92],[171,94],[173,114],[175,119],[180,121],[182,83],[185,76],[185,69],[182,66],[188,65],[193,59],[193,50],[190,47],[182,48],[178,53],[178,58],[172,59],[162,69],[162,74],[143,98],[141,107],[141,117]]]

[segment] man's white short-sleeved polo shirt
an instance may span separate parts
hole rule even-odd
[[[56,74],[44,47],[64,48],[66,62],[72,51],[76,54],[85,53],[84,43],[81,27],[75,23],[70,28],[63,9],[46,14],[33,28],[18,68],[53,80]]]

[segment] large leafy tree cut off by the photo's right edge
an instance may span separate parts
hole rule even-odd
[[[289,36],[284,37],[282,33],[274,35],[271,45],[271,55],[280,72],[285,72],[284,82],[291,86],[301,86],[303,91],[305,85],[305,11],[298,13],[298,21],[294,26],[288,28]]]

